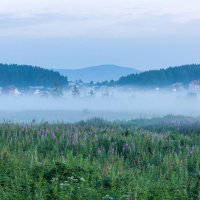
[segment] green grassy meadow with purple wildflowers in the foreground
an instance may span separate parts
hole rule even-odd
[[[0,199],[200,199],[200,122],[0,124]]]

